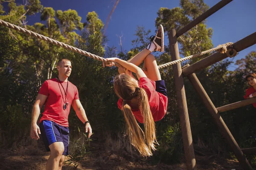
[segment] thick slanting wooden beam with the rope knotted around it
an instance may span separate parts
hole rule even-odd
[[[253,34],[248,35],[247,37],[235,42],[233,44],[233,48],[236,49],[237,52],[244,50],[252,45],[256,44],[256,32]],[[220,52],[216,52],[200,61],[190,65],[189,67],[183,68],[182,73],[183,75],[187,76],[189,74],[195,73],[198,70],[206,68],[222,59],[227,58],[227,54],[221,54]]]

